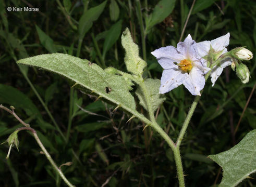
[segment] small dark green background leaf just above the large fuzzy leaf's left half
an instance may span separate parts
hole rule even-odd
[[[46,35],[38,25],[35,25],[36,31],[38,32],[39,39],[41,44],[49,51],[49,52],[57,52],[57,49],[53,43],[53,39]]]

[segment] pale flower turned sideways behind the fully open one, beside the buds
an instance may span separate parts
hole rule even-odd
[[[227,46],[229,44],[229,33],[227,33],[224,36],[218,37],[216,39],[213,39],[212,41],[203,41],[196,44],[198,53],[200,57],[205,57],[209,54],[209,50],[212,46],[213,52],[215,54],[218,54],[218,57],[220,57],[222,54],[227,52]],[[218,58],[217,57],[217,58]],[[204,65],[207,65],[207,61],[204,61]],[[215,65],[212,69],[212,72],[210,74],[212,86],[214,86],[217,78],[222,74],[223,68],[226,68],[226,66],[231,65],[230,59],[224,59],[220,64]]]

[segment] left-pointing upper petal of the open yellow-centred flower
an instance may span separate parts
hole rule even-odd
[[[184,56],[173,46],[161,47],[151,52],[151,54],[156,57],[163,69],[175,68],[176,65],[173,62],[179,63],[184,59]]]

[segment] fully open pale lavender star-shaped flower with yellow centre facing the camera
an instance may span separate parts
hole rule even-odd
[[[174,46],[161,47],[151,52],[164,68],[159,93],[166,93],[183,84],[192,95],[200,96],[205,84],[204,74],[210,69],[201,62],[196,42],[190,34],[184,42]]]

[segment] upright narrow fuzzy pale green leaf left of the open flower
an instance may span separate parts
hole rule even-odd
[[[125,64],[129,72],[135,75],[142,75],[147,62],[139,57],[139,47],[133,42],[128,28],[121,36],[121,43],[125,48]]]

